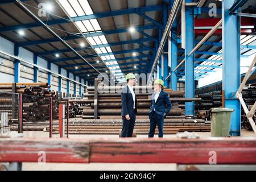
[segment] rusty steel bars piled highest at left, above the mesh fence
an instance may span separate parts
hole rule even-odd
[[[49,89],[47,82],[1,83],[0,91],[22,93],[25,95],[55,97],[55,91]]]

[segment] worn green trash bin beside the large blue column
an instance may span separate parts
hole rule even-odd
[[[227,137],[229,135],[231,114],[234,109],[215,107],[210,109],[210,111],[212,113],[210,126],[211,137]]]

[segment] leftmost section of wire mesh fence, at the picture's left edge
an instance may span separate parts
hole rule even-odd
[[[0,92],[0,134],[20,132],[19,94]]]

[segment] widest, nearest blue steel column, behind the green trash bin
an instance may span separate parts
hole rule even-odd
[[[240,16],[229,15],[234,0],[222,1],[222,90],[225,107],[234,109],[230,135],[241,135],[241,105],[234,98],[240,86]]]

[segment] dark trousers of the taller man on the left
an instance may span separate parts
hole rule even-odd
[[[127,120],[124,116],[123,118],[123,126],[121,131],[121,137],[133,137],[133,129],[135,125],[136,115],[134,110],[129,114],[130,120]]]

